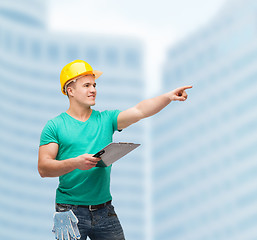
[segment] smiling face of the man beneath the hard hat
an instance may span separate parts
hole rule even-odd
[[[90,107],[95,105],[96,83],[93,75],[86,75],[68,85],[67,92],[70,101]]]

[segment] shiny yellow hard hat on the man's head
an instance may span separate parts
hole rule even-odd
[[[78,76],[93,74],[95,79],[99,78],[103,72],[93,70],[93,68],[83,60],[75,60],[71,63],[65,65],[61,71],[60,82],[61,90],[64,95],[66,95],[65,84]]]

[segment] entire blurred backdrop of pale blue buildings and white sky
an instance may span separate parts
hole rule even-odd
[[[0,0],[0,239],[54,239],[57,178],[37,172],[47,120],[68,108],[62,67],[104,72],[95,110],[183,85],[186,102],[116,133],[128,240],[257,239],[257,1]]]

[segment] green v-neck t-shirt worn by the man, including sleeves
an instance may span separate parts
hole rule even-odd
[[[112,142],[117,130],[119,110],[95,111],[86,122],[67,113],[51,119],[45,125],[40,146],[51,142],[59,145],[56,160],[95,154]],[[75,169],[59,177],[56,202],[73,205],[96,205],[112,199],[110,193],[111,166],[90,170]]]

